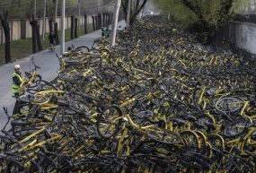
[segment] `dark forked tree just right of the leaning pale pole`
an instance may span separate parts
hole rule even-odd
[[[130,19],[129,24],[132,25],[137,18],[137,15],[141,12],[141,10],[146,5],[147,0],[133,0],[131,9],[130,9]],[[123,13],[125,15],[125,19],[127,19],[128,15],[128,0],[122,0],[121,2]]]

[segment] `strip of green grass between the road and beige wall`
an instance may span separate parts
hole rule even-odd
[[[65,30],[65,41],[70,40],[70,31],[71,29]],[[89,24],[87,27],[88,33],[93,32],[93,25]],[[42,40],[41,37],[41,43],[43,49],[49,48],[49,40],[47,33],[45,35],[45,40]],[[84,35],[84,27],[81,27],[81,29],[78,32],[79,36]],[[58,36],[60,37],[60,33],[58,32]],[[11,56],[12,56],[12,62],[16,59],[21,59],[23,57],[30,56],[32,54],[32,39],[19,39],[14,40],[11,42]],[[0,65],[4,65],[4,44],[0,45]]]

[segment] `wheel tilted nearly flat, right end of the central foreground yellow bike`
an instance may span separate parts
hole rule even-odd
[[[147,137],[157,143],[164,144],[179,144],[181,143],[181,136],[172,131],[165,129],[147,129]]]

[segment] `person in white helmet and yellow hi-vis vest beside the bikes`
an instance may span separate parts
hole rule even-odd
[[[16,102],[13,108],[13,115],[18,114],[18,109],[22,103],[18,98],[21,95],[21,84],[23,82],[25,82],[25,80],[22,77],[21,65],[14,65],[12,92]]]

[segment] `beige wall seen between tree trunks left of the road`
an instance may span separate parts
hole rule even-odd
[[[77,17],[77,16],[76,16]],[[58,30],[60,28],[60,17],[57,18],[57,27]],[[87,16],[87,22],[93,23],[91,16]],[[81,15],[80,18],[81,26],[84,26],[84,15]],[[66,29],[71,27],[71,18],[70,16],[66,16]],[[10,21],[10,30],[11,30],[11,41],[18,39],[28,39],[32,37],[32,29],[29,20],[11,20]],[[43,30],[43,19],[40,19],[40,34],[42,34]],[[46,32],[49,32],[49,18],[46,18]],[[4,43],[4,30],[0,25],[0,44]]]

